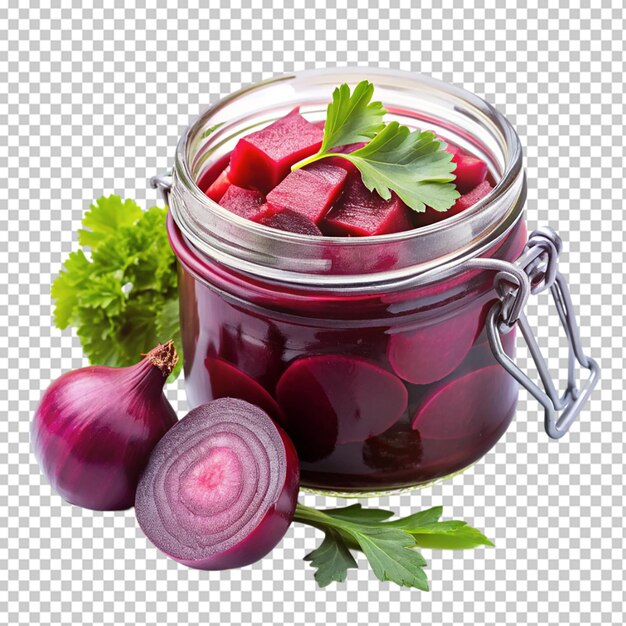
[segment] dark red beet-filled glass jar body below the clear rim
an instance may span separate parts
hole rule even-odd
[[[518,384],[484,329],[493,272],[361,296],[294,293],[199,259],[169,227],[191,407],[223,396],[263,407],[294,440],[304,487],[423,485],[476,462],[509,426]],[[525,242],[520,220],[484,256],[513,261]],[[502,342],[513,357],[515,332]]]

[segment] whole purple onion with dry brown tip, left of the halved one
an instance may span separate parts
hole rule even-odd
[[[134,505],[150,452],[177,421],[163,394],[177,358],[168,342],[131,367],[85,367],[48,387],[31,442],[61,497],[97,511]]]

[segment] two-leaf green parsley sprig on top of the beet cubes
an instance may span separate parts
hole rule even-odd
[[[446,211],[460,196],[455,179],[452,155],[446,143],[429,131],[411,131],[398,122],[385,125],[387,112],[382,103],[371,102],[374,86],[360,82],[352,93],[344,83],[333,92],[326,111],[324,137],[317,154],[296,163],[299,169],[325,159],[339,157],[353,163],[361,173],[363,184],[384,200],[391,192],[413,210],[426,207]],[[371,141],[351,153],[333,152],[341,145]]]

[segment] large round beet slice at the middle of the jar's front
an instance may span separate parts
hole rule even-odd
[[[304,460],[323,458],[336,444],[365,441],[404,413],[398,378],[365,359],[320,355],[294,361],[276,386],[286,430]]]

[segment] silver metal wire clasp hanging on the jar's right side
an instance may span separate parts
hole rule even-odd
[[[569,289],[565,278],[557,269],[561,246],[561,239],[556,232],[546,227],[531,233],[524,252],[514,264],[497,259],[472,259],[465,264],[467,269],[490,269],[497,272],[495,287],[500,299],[487,314],[489,345],[498,362],[543,405],[546,433],[553,439],[559,439],[569,430],[600,378],[598,364],[582,350]],[[524,314],[528,296],[547,289],[552,294],[568,340],[567,388],[562,395],[559,395],[555,387]],[[511,360],[502,347],[500,334],[511,331],[515,324],[522,331],[543,389]],[[580,388],[576,384],[577,362],[588,371]]]

